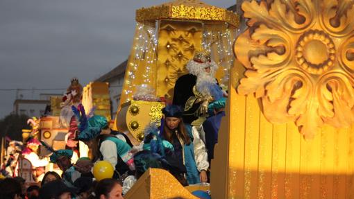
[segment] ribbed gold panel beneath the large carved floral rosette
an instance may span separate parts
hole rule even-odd
[[[272,124],[257,99],[235,92],[242,70],[237,64],[231,69],[230,111],[212,160],[212,198],[354,196],[354,126],[325,125],[305,140],[292,122]]]

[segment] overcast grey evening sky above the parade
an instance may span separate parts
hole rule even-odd
[[[0,0],[0,89],[82,85],[123,62],[135,31],[135,10],[162,0]],[[232,0],[205,0],[227,8]],[[24,98],[39,93],[22,92]],[[0,90],[0,119],[12,112],[15,91]]]

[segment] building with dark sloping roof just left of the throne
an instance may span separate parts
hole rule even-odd
[[[96,79],[97,82],[109,83],[110,89],[110,112],[111,118],[115,119],[117,108],[121,101],[121,90],[124,83],[124,74],[126,73],[127,60],[119,64],[117,67]]]

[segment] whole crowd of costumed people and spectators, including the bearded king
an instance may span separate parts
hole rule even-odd
[[[176,82],[174,100],[162,109],[161,123],[147,126],[144,141],[137,146],[133,146],[123,132],[110,129],[105,117],[86,114],[80,103],[71,105],[73,114],[65,108],[71,117],[69,126],[73,120],[76,123],[69,140],[83,141],[90,148],[92,158],[73,161],[76,153],[73,148],[53,150],[46,145],[52,152],[50,162],[60,168],[62,175],[53,171],[42,173],[40,184],[27,189],[22,178],[3,178],[0,180],[1,197],[123,198],[149,168],[169,171],[183,186],[208,183],[227,93],[214,78],[217,64],[207,51],[196,53],[187,69],[189,74]],[[73,98],[76,93],[69,92],[67,98]],[[34,138],[27,141],[28,157],[39,145]],[[48,161],[35,158],[39,167]],[[98,180],[92,172],[99,161],[112,166],[114,172],[110,178]],[[205,198],[208,197],[205,193]]]

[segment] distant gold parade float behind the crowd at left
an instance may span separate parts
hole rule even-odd
[[[74,91],[74,92],[73,92]],[[76,118],[71,111],[71,105],[78,105],[82,103],[87,110],[94,110],[96,114],[105,116],[110,121],[110,98],[107,83],[89,83],[82,87],[76,78],[71,80],[67,92],[64,96],[51,97],[51,114],[41,116],[40,118],[28,119],[28,124],[31,129],[22,130],[22,137],[24,146],[28,147],[28,141],[36,139],[43,141],[47,146],[53,150],[62,150],[71,148],[74,151],[72,161],[76,161],[79,157],[89,157],[90,151],[85,144],[76,139],[77,124]],[[37,157],[48,157],[53,153],[44,146],[40,146],[39,150],[35,151]],[[11,147],[11,146],[9,146]],[[35,159],[39,162],[39,159]],[[35,173],[37,166],[33,160],[28,159],[24,151],[19,155],[18,166],[15,168],[16,174],[26,180],[28,184],[34,184],[39,179],[36,178]],[[42,167],[42,166],[40,166]],[[56,171],[61,173],[53,163],[47,164],[43,171]],[[38,176],[37,176],[38,177]]]

